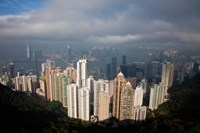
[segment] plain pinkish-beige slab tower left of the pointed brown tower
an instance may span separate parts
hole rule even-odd
[[[99,121],[103,121],[109,118],[109,104],[110,96],[108,93],[100,91],[99,92],[99,106],[98,106],[98,118]]]

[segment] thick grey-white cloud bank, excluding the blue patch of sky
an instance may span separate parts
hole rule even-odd
[[[168,14],[159,16],[159,11],[151,12],[149,9],[154,7],[152,5],[148,7],[142,2],[135,3],[137,1],[134,0],[48,0],[41,9],[19,15],[0,16],[0,40],[10,37],[16,43],[16,37],[20,37],[26,40],[81,40],[88,44],[200,42],[200,31],[188,32],[184,28],[187,25],[187,29],[194,29],[190,26],[190,21],[180,23],[176,18],[169,19]],[[159,8],[162,7],[164,5]],[[176,14],[176,10],[173,10]],[[185,16],[187,18],[189,16]],[[194,18],[196,17],[193,17],[195,22],[199,20]],[[195,25],[198,26],[199,23]]]

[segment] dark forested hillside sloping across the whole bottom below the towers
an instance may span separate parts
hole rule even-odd
[[[94,124],[67,117],[57,101],[14,92],[0,86],[0,132],[200,132],[200,74],[175,84],[170,100],[147,120],[119,122],[110,118]]]

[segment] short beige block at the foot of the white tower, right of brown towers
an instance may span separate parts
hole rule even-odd
[[[134,120],[142,121],[146,119],[147,107],[146,106],[137,106],[134,107]]]

